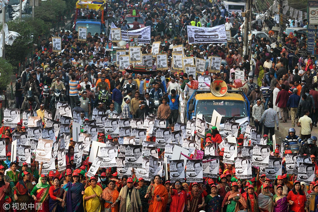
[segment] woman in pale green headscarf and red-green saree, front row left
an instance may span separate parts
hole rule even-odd
[[[36,212],[47,212],[49,211],[49,189],[50,184],[47,182],[45,174],[41,174],[38,184],[31,191],[31,197],[34,199],[35,205],[40,203],[42,207],[36,209]]]

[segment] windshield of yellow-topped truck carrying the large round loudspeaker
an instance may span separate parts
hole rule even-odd
[[[199,100],[197,101],[196,114],[203,114],[207,122],[211,122],[213,110],[216,110],[222,120],[236,116],[247,117],[245,102],[238,100]]]

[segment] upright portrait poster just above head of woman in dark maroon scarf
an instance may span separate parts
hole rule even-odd
[[[187,182],[203,182],[202,160],[187,160]]]

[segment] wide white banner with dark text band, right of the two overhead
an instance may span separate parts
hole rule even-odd
[[[227,42],[225,25],[210,28],[187,26],[187,31],[189,44]]]

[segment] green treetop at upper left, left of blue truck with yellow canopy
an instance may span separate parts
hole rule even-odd
[[[66,2],[63,0],[44,1],[39,7],[35,7],[35,17],[42,19],[47,27],[64,17]]]

